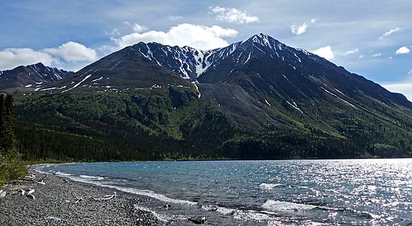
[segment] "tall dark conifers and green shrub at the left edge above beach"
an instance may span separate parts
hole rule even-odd
[[[16,121],[11,95],[0,95],[0,186],[27,174],[16,152]]]

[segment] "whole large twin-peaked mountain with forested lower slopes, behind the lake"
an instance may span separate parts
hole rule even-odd
[[[34,157],[412,156],[406,97],[265,34],[209,51],[139,42],[16,99]]]

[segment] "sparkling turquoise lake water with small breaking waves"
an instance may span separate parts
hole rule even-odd
[[[97,162],[39,166],[143,197],[166,225],[412,224],[412,159]],[[169,208],[165,208],[170,204]]]

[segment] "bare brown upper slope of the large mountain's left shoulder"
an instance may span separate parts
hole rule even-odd
[[[42,90],[67,92],[77,88],[119,91],[165,86],[194,88],[190,81],[149,60],[133,46],[112,53]]]

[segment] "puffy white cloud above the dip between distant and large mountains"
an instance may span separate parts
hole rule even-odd
[[[44,52],[56,55],[67,62],[93,61],[98,58],[94,49],[87,48],[77,42],[66,42],[57,48],[44,49]]]

